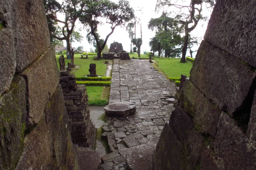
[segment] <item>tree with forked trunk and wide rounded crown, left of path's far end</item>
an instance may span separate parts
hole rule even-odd
[[[108,37],[113,34],[116,26],[124,26],[126,22],[134,18],[134,10],[127,0],[119,0],[118,3],[113,3],[110,0],[85,0],[85,2],[87,5],[79,20],[89,28],[88,31],[93,35],[97,45],[97,58],[101,59],[101,52]],[[111,32],[103,43],[100,41],[99,34],[96,34],[98,25],[102,24],[101,18],[105,18],[106,23],[111,25]]]

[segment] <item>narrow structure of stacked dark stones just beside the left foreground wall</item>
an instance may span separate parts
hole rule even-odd
[[[77,85],[76,77],[68,71],[61,71],[60,85],[65,99],[65,107],[71,124],[73,144],[94,147],[96,129],[90,120],[88,96],[85,85]]]

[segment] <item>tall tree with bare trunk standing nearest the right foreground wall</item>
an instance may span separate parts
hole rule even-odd
[[[185,36],[184,36],[184,42],[183,42],[183,48],[182,48],[182,57],[180,62],[186,62],[186,51],[188,46],[188,40],[189,40],[189,33],[193,31],[196,26],[198,25],[199,20],[201,20],[203,17],[201,15],[202,12],[202,3],[210,3],[210,5],[214,5],[215,0],[191,0],[190,5],[183,5],[184,3],[181,2],[178,3],[172,3],[172,0],[158,0],[156,8],[159,8],[160,6],[173,6],[180,9],[187,9],[188,13],[183,16],[183,12],[181,12],[180,15],[177,15],[180,17],[180,23],[183,25]]]

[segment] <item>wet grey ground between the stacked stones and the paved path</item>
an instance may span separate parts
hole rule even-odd
[[[89,106],[90,109],[90,119],[93,121],[93,124],[99,130],[104,122],[100,119],[100,116],[105,113],[104,106]],[[107,154],[106,148],[103,145],[102,140],[96,139],[96,151],[99,153],[99,156]]]

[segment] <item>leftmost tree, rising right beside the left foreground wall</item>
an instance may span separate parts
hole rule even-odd
[[[54,0],[48,0],[54,1]],[[56,17],[56,12],[52,11],[51,13],[47,13],[47,18],[51,20],[51,22],[61,23],[63,24],[61,31],[50,31],[52,37],[56,38],[57,40],[66,40],[67,42],[67,53],[71,54],[71,44],[70,39],[72,38],[71,35],[75,28],[75,23],[78,17],[81,15],[81,10],[84,8],[85,3],[83,0],[65,0],[64,3],[61,5],[61,9],[58,11],[65,15],[64,20],[59,20]],[[75,35],[74,35],[75,36]],[[72,40],[71,40],[72,41]],[[71,55],[71,64],[74,64],[74,58]]]

